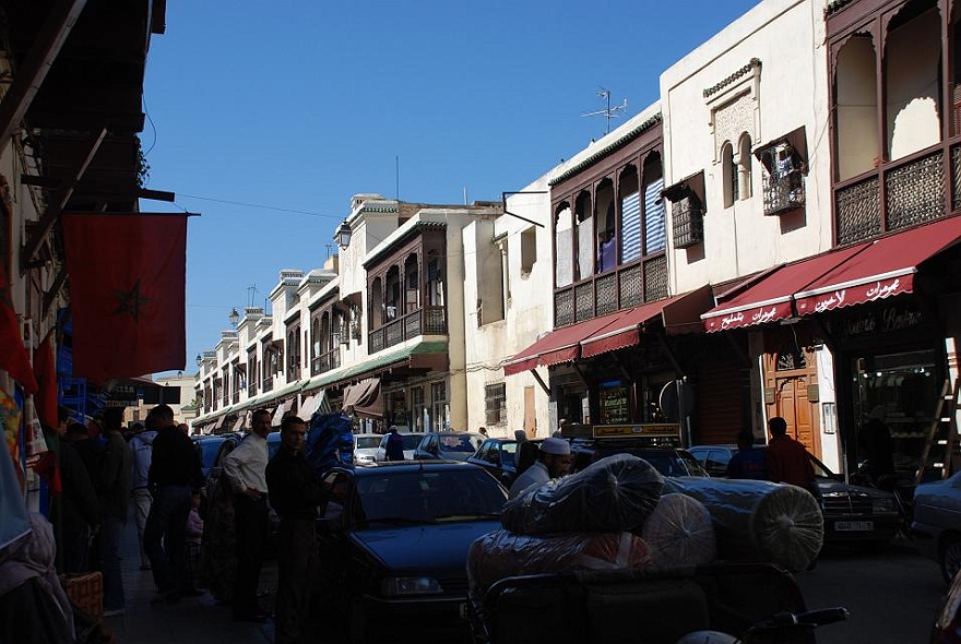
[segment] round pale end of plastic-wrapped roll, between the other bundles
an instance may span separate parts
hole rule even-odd
[[[717,540],[711,513],[703,503],[686,494],[664,494],[641,537],[657,568],[702,565],[717,556]]]

